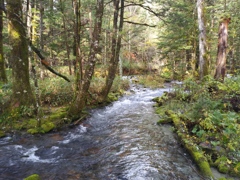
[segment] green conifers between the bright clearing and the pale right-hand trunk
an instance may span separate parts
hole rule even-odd
[[[196,2],[168,0],[161,4],[159,23],[159,60],[173,79],[197,74],[199,68]]]

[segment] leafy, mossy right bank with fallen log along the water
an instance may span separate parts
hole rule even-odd
[[[240,178],[240,76],[224,83],[188,79],[155,101],[158,124],[174,125],[203,174],[213,177],[215,167]]]

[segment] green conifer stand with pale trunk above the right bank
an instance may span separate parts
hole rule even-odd
[[[222,51],[220,49],[224,49],[220,59],[228,59],[225,65],[229,67],[228,73],[237,71],[240,65],[237,61],[240,57],[240,34],[237,30],[240,20],[237,8],[239,5],[239,1],[225,0],[168,0],[162,4],[161,10],[165,12],[162,18],[166,23],[160,21],[160,60],[165,62],[164,68],[172,71],[173,78],[183,79],[182,77],[189,74],[199,79],[208,74],[216,79],[222,78],[221,71],[226,68],[220,68],[222,63],[219,61],[216,64],[216,59],[220,57],[219,52]],[[218,30],[219,20],[220,26],[223,26],[222,19],[229,18],[230,15],[228,34],[228,23],[224,23],[224,32],[219,32],[219,38],[222,37],[220,41],[225,39],[226,42],[228,37],[227,45],[218,42],[217,33],[221,31],[221,28]],[[221,47],[219,44],[222,44]]]

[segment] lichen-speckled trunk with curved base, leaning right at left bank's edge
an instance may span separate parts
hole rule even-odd
[[[69,109],[69,115],[76,117],[82,112],[86,106],[88,90],[90,82],[94,73],[94,67],[97,61],[96,55],[101,53],[100,37],[102,28],[102,16],[104,10],[104,0],[97,0],[96,5],[96,17],[92,35],[92,41],[90,45],[90,52],[88,56],[88,62],[86,65],[84,77],[81,82],[81,87],[77,92],[76,100],[72,103]]]

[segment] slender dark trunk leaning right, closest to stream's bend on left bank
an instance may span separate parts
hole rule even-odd
[[[119,2],[120,7],[120,22],[118,27],[118,14],[119,14]],[[122,40],[122,28],[123,28],[123,17],[124,17],[124,0],[114,0],[114,17],[113,17],[113,36],[112,36],[112,56],[109,62],[108,75],[106,78],[106,85],[103,90],[103,99],[107,98],[108,93],[112,87],[115,75],[117,72],[119,54],[121,49]]]

